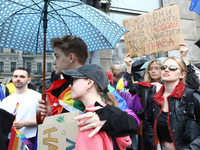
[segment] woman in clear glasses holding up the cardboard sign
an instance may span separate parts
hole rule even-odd
[[[199,86],[198,77],[195,74],[193,67],[186,58],[188,50],[189,49],[185,43],[180,43],[180,55],[187,65],[186,84],[190,88],[197,89]],[[141,104],[143,109],[138,111],[137,115],[141,120],[143,120],[143,142],[149,143],[144,144],[145,150],[151,150],[154,147],[154,143],[148,142],[149,139],[146,136],[146,130],[148,128],[148,125],[146,124],[144,118],[148,114],[148,110],[152,109],[152,97],[162,86],[160,69],[160,67],[162,66],[162,61],[158,59],[151,60],[145,69],[144,82],[133,83],[130,76],[132,59],[129,57],[129,55],[130,54],[127,54],[124,58],[124,61],[127,65],[127,72],[125,73],[124,77],[126,78],[126,80],[128,80],[128,85],[126,88],[129,89],[129,92],[131,94],[138,93],[139,97],[141,98]]]

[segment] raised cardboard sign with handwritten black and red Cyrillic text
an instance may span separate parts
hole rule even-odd
[[[122,24],[129,30],[124,42],[131,57],[177,50],[184,42],[178,5],[124,19]]]

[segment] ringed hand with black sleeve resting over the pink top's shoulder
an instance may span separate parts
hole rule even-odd
[[[101,127],[106,122],[106,120],[100,121],[99,116],[95,112],[93,112],[93,111],[100,109],[100,108],[102,108],[102,107],[97,106],[97,107],[86,108],[86,110],[89,111],[89,112],[75,117],[75,120],[77,120],[77,121],[79,121],[81,119],[85,119],[85,120],[80,121],[78,123],[79,127],[84,126],[84,127],[80,128],[80,131],[86,131],[86,130],[90,130],[92,128],[95,128],[89,134],[89,137],[93,137],[95,134],[97,134],[99,132],[99,130],[101,129]]]

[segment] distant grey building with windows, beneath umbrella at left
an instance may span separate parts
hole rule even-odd
[[[53,69],[53,53],[46,54],[46,77],[50,77]],[[26,68],[31,73],[32,82],[41,83],[43,75],[43,55],[27,51],[0,48],[0,78],[11,79],[16,68]],[[3,80],[8,82],[9,80]]]

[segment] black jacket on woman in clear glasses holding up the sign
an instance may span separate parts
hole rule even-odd
[[[128,81],[128,85],[126,88],[129,89],[131,94],[138,93],[139,97],[141,98],[141,104],[143,109],[138,111],[136,114],[137,116],[143,120],[143,141],[144,143],[148,143],[148,138],[146,136],[146,130],[148,130],[148,124],[144,120],[145,116],[148,114],[149,111],[152,109],[152,97],[156,94],[156,88],[151,86],[141,86],[136,83],[133,83],[131,80],[131,75],[129,73],[124,74],[125,80]],[[199,79],[195,73],[195,70],[191,64],[187,65],[187,78],[186,78],[186,85],[192,89],[199,88]],[[154,143],[152,143],[154,146]],[[144,144],[145,150],[151,150],[148,144]]]

